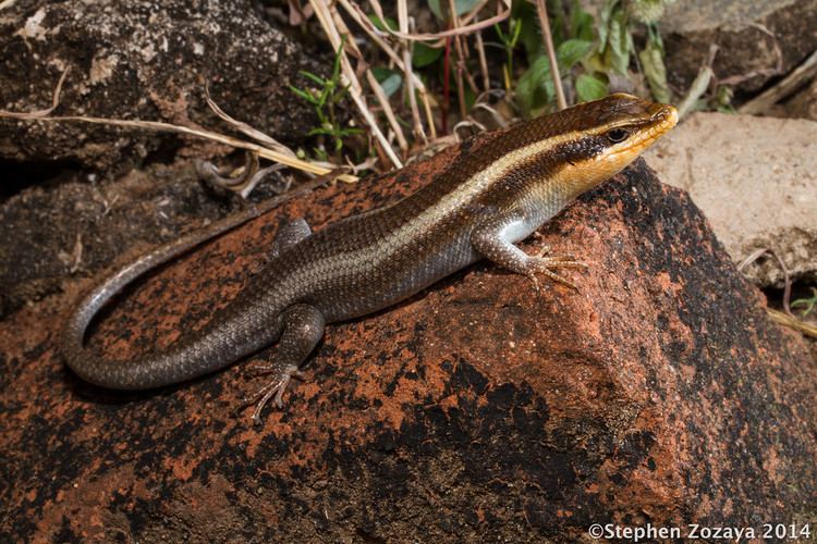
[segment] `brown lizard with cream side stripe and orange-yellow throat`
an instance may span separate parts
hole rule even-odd
[[[281,404],[290,376],[326,323],[389,307],[480,258],[535,282],[545,274],[569,283],[553,269],[581,262],[527,256],[514,244],[623,169],[676,121],[670,106],[613,95],[519,124],[392,206],[315,234],[303,221],[285,225],[270,262],[236,299],[166,353],[126,362],[90,354],[84,336],[97,310],[145,270],[193,245],[176,244],[161,259],[137,261],[86,297],[65,326],[63,354],[89,382],[144,390],[214,372],[278,341],[257,418],[271,396]]]

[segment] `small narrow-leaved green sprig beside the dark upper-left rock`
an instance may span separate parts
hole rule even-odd
[[[343,149],[343,138],[363,133],[359,128],[341,126],[336,114],[336,106],[343,99],[346,92],[349,92],[349,86],[343,86],[340,77],[342,48],[343,44],[341,42],[340,48],[338,48],[338,51],[334,53],[334,63],[332,64],[332,73],[329,78],[321,77],[312,72],[301,71],[301,75],[318,85],[317,89],[300,89],[290,85],[290,89],[295,95],[303,98],[314,107],[315,113],[320,122],[320,126],[309,131],[307,136],[325,136],[331,138],[336,154],[340,154]],[[320,148],[316,148],[315,151],[320,159],[326,160],[326,151]]]

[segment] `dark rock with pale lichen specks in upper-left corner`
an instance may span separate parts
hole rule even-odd
[[[317,124],[289,84],[303,84],[300,70],[321,67],[247,0],[17,0],[0,10],[0,109],[48,107],[60,74],[70,69],[54,114],[223,131],[204,102],[209,85],[228,113],[288,143]],[[0,120],[0,159],[7,161],[110,170],[123,159],[163,158],[179,146],[168,134]]]

